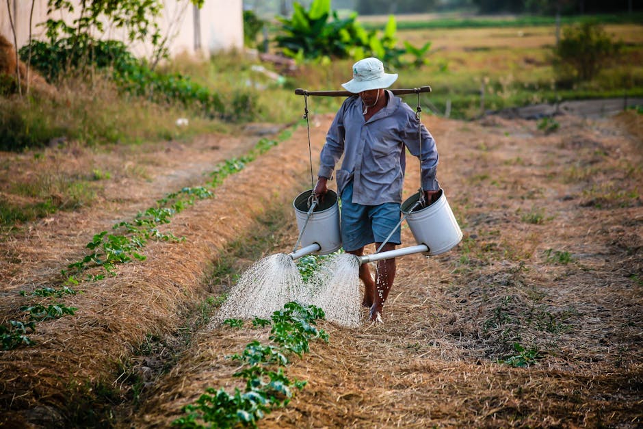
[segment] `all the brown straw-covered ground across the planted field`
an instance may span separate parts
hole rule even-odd
[[[313,118],[313,154],[330,120]],[[462,243],[437,257],[397,260],[384,324],[322,322],[330,342],[311,344],[287,368],[308,385],[261,427],[642,425],[641,116],[555,121],[560,127],[545,133],[529,120],[424,116]],[[210,136],[180,148],[103,153],[100,161],[91,155],[98,166],[131,162],[145,174],[116,174],[101,204],[3,237],[1,322],[25,304],[18,291],[60,281],[57,273],[83,255],[94,233],[166,192],[204,183],[209,168],[256,140]],[[47,157],[73,159],[67,150]],[[406,196],[417,188],[417,168],[410,159]],[[74,316],[39,324],[36,346],[0,352],[1,424],[167,427],[207,387],[237,385],[226,356],[264,331],[200,329],[187,343],[177,333],[192,326],[199,302],[228,287],[211,281],[211,266],[239,239],[252,244],[253,234],[270,228],[266,218],[284,226],[257,246],[265,254],[291,250],[291,200],[310,186],[309,176],[299,127],[228,177],[215,198],[175,216],[168,230],[184,242],[152,243],[146,261],[80,285],[85,293],[65,298],[79,309]],[[403,241],[415,244],[408,228]],[[169,351],[144,350],[150,338]],[[511,365],[521,358],[529,365]],[[133,396],[135,371],[144,383]]]

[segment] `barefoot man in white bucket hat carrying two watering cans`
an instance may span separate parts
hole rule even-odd
[[[373,242],[379,249],[399,222],[406,148],[416,157],[421,154],[427,204],[437,199],[440,189],[436,180],[438,152],[432,135],[418,123],[409,105],[384,89],[396,79],[397,74],[384,73],[384,64],[377,58],[356,62],[353,79],[342,84],[356,95],[343,102],[320,154],[314,190],[318,198],[324,198],[334,166],[343,155],[341,169],[335,174],[341,196],[342,246],[357,256]],[[400,244],[399,228],[382,251],[393,250],[396,244]],[[384,302],[395,279],[395,259],[378,261],[374,282],[367,264],[360,266],[359,277],[365,286],[362,304],[371,309],[369,320],[382,322]]]

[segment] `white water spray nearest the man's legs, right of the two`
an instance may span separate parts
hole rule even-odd
[[[353,255],[328,257],[313,274],[307,299],[324,310],[326,320],[350,328],[359,326],[362,296],[358,273],[359,262]]]

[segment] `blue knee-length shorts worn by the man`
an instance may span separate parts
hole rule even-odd
[[[399,222],[399,203],[361,205],[352,202],[353,182],[341,192],[341,242],[347,252],[367,244],[382,243]],[[389,239],[400,244],[399,226]]]

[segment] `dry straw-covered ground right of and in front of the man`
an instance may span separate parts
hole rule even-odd
[[[260,427],[640,426],[640,138],[624,118],[556,119],[549,135],[427,120],[464,241],[398,259],[383,325],[322,324],[330,343],[287,370],[309,384]],[[418,180],[408,164],[405,195]],[[168,426],[206,387],[237,386],[224,358],[252,335],[200,333],[124,426]],[[506,363],[515,343],[531,366]]]

